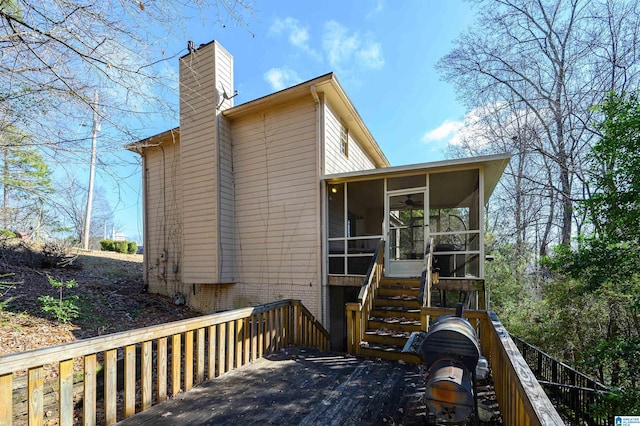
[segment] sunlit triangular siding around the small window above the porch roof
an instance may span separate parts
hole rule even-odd
[[[324,107],[324,173],[345,173],[358,170],[368,170],[375,168],[374,163],[369,159],[360,146],[360,142],[352,137],[349,132],[348,156],[340,151],[340,117],[334,112],[330,105]],[[347,129],[349,123],[345,123]]]

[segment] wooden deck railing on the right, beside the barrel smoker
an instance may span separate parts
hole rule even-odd
[[[433,319],[454,313],[454,309],[422,308],[422,324],[428,323],[425,317]],[[482,355],[491,366],[503,424],[564,424],[496,314],[469,310],[463,315],[479,332]]]

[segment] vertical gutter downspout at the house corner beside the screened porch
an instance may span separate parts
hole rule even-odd
[[[322,121],[322,103],[320,102],[320,97],[318,96],[318,92],[316,91],[316,86],[315,84],[312,84],[310,87],[310,91],[311,91],[311,96],[313,96],[313,100],[315,101],[316,104],[316,143],[317,143],[317,155],[316,155],[316,170],[317,170],[317,176],[322,176],[323,175],[323,170],[322,170],[322,166],[324,164],[324,144],[323,144],[323,140],[322,140],[322,135],[324,133],[324,123]],[[327,270],[326,270],[326,258],[327,258],[327,247],[325,244],[325,235],[326,235],[326,230],[325,230],[325,224],[327,223],[326,221],[326,205],[325,205],[325,200],[327,197],[327,189],[326,189],[326,185],[324,184],[324,181],[319,180],[319,185],[320,185],[320,200],[318,200],[318,215],[316,216],[317,221],[318,221],[318,226],[316,229],[318,229],[318,233],[316,235],[316,238],[318,239],[318,242],[320,243],[320,289],[319,289],[319,299],[320,299],[320,309],[319,309],[319,315],[320,315],[320,323],[322,325],[325,326],[325,328],[329,328],[326,318],[328,318],[328,306],[327,306],[327,292],[328,292],[328,287],[327,287]]]

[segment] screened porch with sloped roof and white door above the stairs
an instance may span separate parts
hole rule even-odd
[[[325,176],[329,286],[359,286],[383,241],[386,277],[420,277],[425,253],[432,250],[441,288],[480,292],[471,294],[477,297],[471,307],[482,305],[484,206],[509,158],[503,154]]]

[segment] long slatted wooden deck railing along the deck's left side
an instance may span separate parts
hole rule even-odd
[[[285,345],[328,342],[300,301],[284,300],[0,356],[0,425],[113,424]]]

